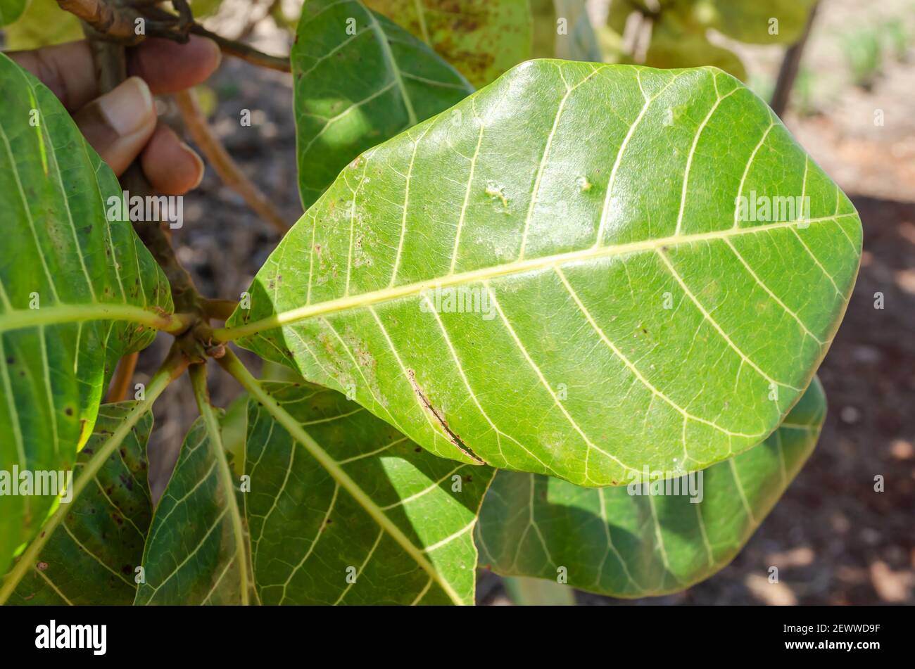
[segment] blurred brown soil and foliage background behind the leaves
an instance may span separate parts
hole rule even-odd
[[[810,461],[747,547],[727,568],[693,588],[662,598],[613,600],[565,588],[557,592],[506,583],[481,571],[478,600],[510,604],[532,596],[626,605],[915,603],[915,0],[797,0],[803,11],[792,37],[803,45],[792,51],[783,43],[737,39],[739,26],[728,30],[729,35],[705,28],[703,13],[715,4],[709,0],[677,1],[689,11],[674,21],[673,16],[664,18],[664,0],[587,0],[584,7],[593,31],[593,37],[587,34],[587,40],[593,39],[587,48],[597,50],[592,59],[657,67],[714,64],[745,80],[765,100],[776,90],[790,92],[780,111],[782,120],[851,197],[863,222],[864,254],[856,289],[819,371],[829,401],[823,434]],[[755,3],[762,7],[760,14],[766,14],[767,4]],[[559,16],[561,5],[577,4],[557,0]],[[805,22],[811,5],[816,5],[813,21]],[[285,55],[295,36],[301,0],[194,0],[192,7],[210,30]],[[80,37],[78,26],[61,20],[66,15],[54,0],[32,0],[28,11],[33,19],[3,31],[4,48]],[[809,35],[804,40],[805,23]],[[789,64],[796,63],[787,87],[784,75],[778,85],[786,53]],[[232,158],[282,218],[295,222],[302,209],[296,189],[291,76],[224,58],[221,69],[196,92],[202,112]],[[175,103],[162,99],[159,110],[180,132]],[[251,113],[250,126],[239,122],[244,110]],[[210,165],[199,188],[185,198],[184,221],[173,236],[178,259],[200,292],[214,297],[237,299],[279,239]],[[141,356],[135,381],[148,378],[169,344],[170,337],[163,337]],[[260,368],[258,358],[242,356],[253,371]],[[216,366],[210,366],[210,373],[214,403],[228,406],[238,395],[237,385],[221,377]],[[196,416],[187,377],[156,403],[150,446],[156,492],[167,482]],[[882,493],[874,490],[877,474],[885,480]],[[775,584],[768,580],[773,564],[780,569]]]

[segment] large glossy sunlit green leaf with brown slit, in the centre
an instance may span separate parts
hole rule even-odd
[[[535,60],[354,161],[218,335],[437,455],[602,486],[775,430],[860,250],[729,75]]]

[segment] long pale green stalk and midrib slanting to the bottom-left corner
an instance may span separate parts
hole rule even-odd
[[[113,434],[102,443],[102,446],[95,451],[86,466],[82,468],[80,477],[73,483],[73,497],[68,504],[59,504],[57,511],[50,517],[47,523],[41,527],[41,533],[27,547],[26,551],[16,562],[16,567],[9,572],[0,588],[0,605],[5,604],[9,596],[16,590],[19,581],[25,577],[29,569],[35,568],[38,564],[38,554],[41,549],[48,543],[48,539],[54,534],[54,531],[63,522],[64,518],[70,514],[74,504],[80,498],[82,491],[95,478],[95,475],[102,469],[102,465],[108,460],[114,451],[121,446],[121,443],[133,430],[137,421],[143,417],[146,411],[152,408],[153,402],[162,394],[162,391],[168,387],[174,379],[178,378],[188,366],[187,361],[178,353],[176,348],[172,348],[166,361],[159,367],[159,370],[146,386],[145,399],[137,402],[134,409],[127,415]]]

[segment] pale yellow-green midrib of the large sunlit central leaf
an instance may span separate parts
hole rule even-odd
[[[799,227],[801,224],[806,226],[813,223],[822,223],[827,221],[833,221],[837,223],[839,218],[856,216],[856,213],[850,212],[846,214],[834,214],[832,216],[821,218],[808,218],[806,220],[780,221],[777,223],[768,223],[765,225],[753,226],[750,228],[727,228],[724,230],[702,232],[692,235],[672,235],[670,237],[664,237],[660,239],[642,239],[640,241],[616,244],[611,246],[595,245],[583,250],[567,251],[565,253],[541,256],[530,260],[515,260],[502,265],[480,268],[479,270],[452,273],[441,277],[427,279],[425,281],[404,283],[400,286],[384,288],[378,291],[362,292],[357,295],[340,297],[322,303],[306,304],[305,306],[297,307],[296,309],[274,313],[272,316],[254,321],[250,324],[221,328],[214,331],[214,336],[221,341],[232,341],[242,336],[254,335],[259,332],[264,332],[265,330],[272,330],[276,327],[296,323],[297,321],[303,321],[314,316],[323,315],[326,313],[343,312],[350,309],[358,309],[364,306],[369,306],[371,304],[389,302],[399,298],[417,295],[424,291],[438,287],[446,288],[448,286],[456,286],[465,283],[487,281],[496,277],[520,274],[528,271],[536,271],[582,260],[599,260],[602,258],[625,255],[627,253],[637,253],[646,250],[664,250],[702,241],[730,239],[748,234],[767,232],[775,229],[793,229]]]

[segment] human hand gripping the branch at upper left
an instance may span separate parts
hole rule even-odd
[[[87,42],[7,55],[57,95],[116,175],[139,155],[146,179],[157,192],[182,195],[199,185],[203,161],[171,128],[157,123],[153,95],[184,90],[210,77],[221,59],[213,41],[192,36],[188,44],[179,45],[146,39],[127,49],[130,78],[102,96]]]

